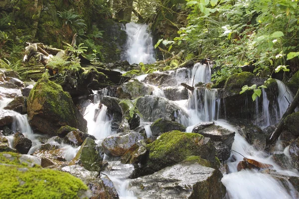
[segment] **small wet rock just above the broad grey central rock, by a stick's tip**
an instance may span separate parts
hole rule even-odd
[[[188,90],[185,87],[165,87],[163,91],[168,100],[188,100]]]

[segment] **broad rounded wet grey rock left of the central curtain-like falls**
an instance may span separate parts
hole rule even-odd
[[[136,101],[136,107],[146,121],[154,122],[164,117],[171,121],[186,113],[174,102],[156,96],[145,96]]]

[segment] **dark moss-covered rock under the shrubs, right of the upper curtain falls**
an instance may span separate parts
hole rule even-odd
[[[245,85],[251,86],[251,80],[254,75],[249,72],[242,72],[231,75],[224,85],[224,89],[228,92],[240,92]]]

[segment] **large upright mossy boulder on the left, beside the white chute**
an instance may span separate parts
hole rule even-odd
[[[43,134],[57,135],[64,125],[87,131],[87,122],[70,95],[47,78],[40,79],[31,90],[27,110],[31,126]]]

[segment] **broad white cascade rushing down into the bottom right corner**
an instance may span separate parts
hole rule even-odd
[[[224,120],[215,121],[216,125],[236,132],[232,149],[241,153],[246,158],[254,159],[262,163],[271,164],[279,174],[298,176],[298,171],[282,170],[263,151],[257,151],[239,133],[238,130]],[[229,199],[296,199],[296,190],[288,183],[290,193],[283,186],[282,182],[271,175],[262,174],[255,170],[242,170],[237,172],[237,165],[243,160],[243,156],[231,152],[236,157],[235,161],[227,161],[230,174],[225,174],[221,180],[227,189]]]

